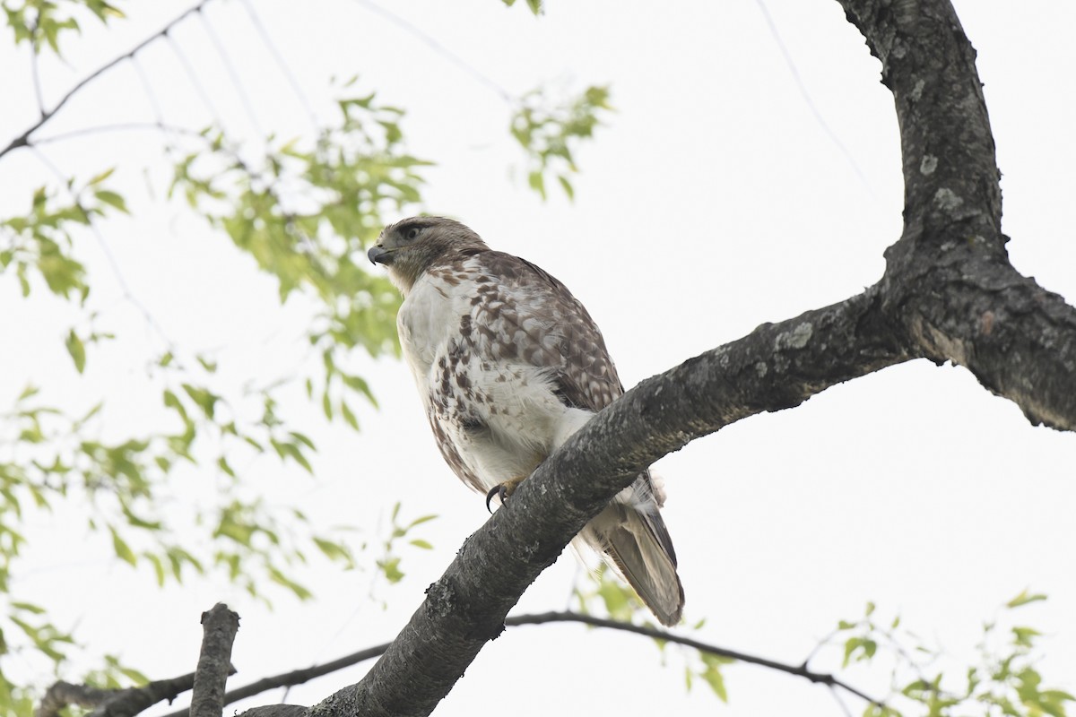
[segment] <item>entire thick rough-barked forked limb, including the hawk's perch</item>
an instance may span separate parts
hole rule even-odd
[[[307,715],[429,714],[500,634],[526,587],[617,491],[662,456],[740,418],[928,358],[966,367],[1033,424],[1076,430],[1076,310],[1008,261],[975,51],[952,5],[838,1],[881,60],[901,128],[904,231],[886,252],[882,279],[847,301],[763,325],[603,411],[467,540],[369,674]]]

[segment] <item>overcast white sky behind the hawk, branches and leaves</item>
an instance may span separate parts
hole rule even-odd
[[[70,45],[69,66],[43,67],[46,104],[188,4],[136,3],[114,30],[87,25]],[[556,192],[542,203],[525,188],[506,131],[509,104],[413,33],[362,2],[324,0],[302,12],[275,0],[256,5],[322,117],[330,116],[331,75],[357,73],[362,88],[408,110],[409,146],[438,162],[426,173],[426,209],[459,217],[495,248],[565,282],[601,326],[627,385],[763,321],[860,291],[881,275],[882,250],[900,234],[892,98],[877,60],[832,0],[766,3],[802,85],[751,0],[553,1],[541,18],[496,0],[392,3],[510,94],[546,81],[577,90],[611,85],[618,112],[580,153],[574,204]],[[977,0],[957,9],[979,52],[1013,261],[1072,302],[1076,6]],[[227,43],[263,129],[307,131],[243,5],[212,2],[204,15]],[[228,127],[252,133],[206,25],[193,19],[173,38]],[[3,143],[36,112],[25,47],[16,53],[9,44],[0,48]],[[209,121],[167,44],[139,58],[170,121]],[[42,135],[132,119],[152,121],[153,114],[125,63],[72,100]],[[158,201],[167,186],[159,138],[102,135],[44,152],[84,177],[122,167],[117,181],[137,211],[102,231],[131,292],[178,344],[213,349],[224,376],[237,382],[273,375],[302,357],[301,304],[277,310],[273,283],[249,258],[181,207]],[[51,181],[31,154],[5,157],[0,214],[22,210],[31,188]],[[0,278],[0,404],[33,381],[66,405],[108,396],[117,406],[109,432],[152,425],[159,391],[140,387],[156,338],[123,301],[100,249],[90,238],[81,243],[102,328],[122,339],[91,350],[79,377],[61,347],[73,314],[24,302],[13,277]],[[62,510],[31,519],[19,594],[47,604],[61,625],[77,626],[91,651],[119,654],[154,678],[194,668],[198,616],[218,600],[242,616],[237,684],[392,639],[486,514],[440,460],[405,367],[356,356],[354,368],[382,405],[362,407],[362,433],[322,426],[296,391],[287,407],[312,427],[317,478],[266,460],[246,467],[247,485],[326,524],[357,525],[363,537],[378,535],[397,500],[405,516],[439,514],[423,532],[436,549],[409,554],[405,582],[379,589],[386,610],[368,599],[370,573],[336,568],[308,575],[316,602],[282,596],[272,612],[223,582],[157,590],[147,576],[107,560],[107,542],[87,537],[76,512]],[[981,621],[1030,587],[1050,600],[1025,607],[1020,619],[1047,635],[1047,682],[1072,691],[1074,462],[1076,436],[1032,428],[963,369],[925,361],[742,421],[660,467],[688,620],[707,618],[700,640],[795,663],[838,619],[854,618],[873,600],[963,658],[974,651]],[[189,499],[213,490],[209,476],[192,473],[189,481]],[[565,607],[576,571],[564,556],[518,611]],[[840,714],[822,687],[740,665],[726,671],[724,706],[705,686],[686,693],[682,664],[676,650],[663,658],[636,636],[568,626],[511,630],[481,653],[437,714]],[[812,664],[834,669],[836,654]],[[364,670],[296,688],[287,701],[314,702]],[[848,679],[883,694],[881,672],[853,670]]]

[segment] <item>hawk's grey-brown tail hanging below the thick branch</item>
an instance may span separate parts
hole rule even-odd
[[[683,586],[676,572],[676,550],[653,502],[610,503],[580,535],[604,554],[665,626],[680,621]]]

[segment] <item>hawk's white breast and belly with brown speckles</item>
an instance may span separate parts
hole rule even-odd
[[[471,257],[427,271],[397,318],[441,454],[478,490],[529,475],[566,438],[566,417],[575,430],[590,416],[562,400],[563,336],[533,299]]]

